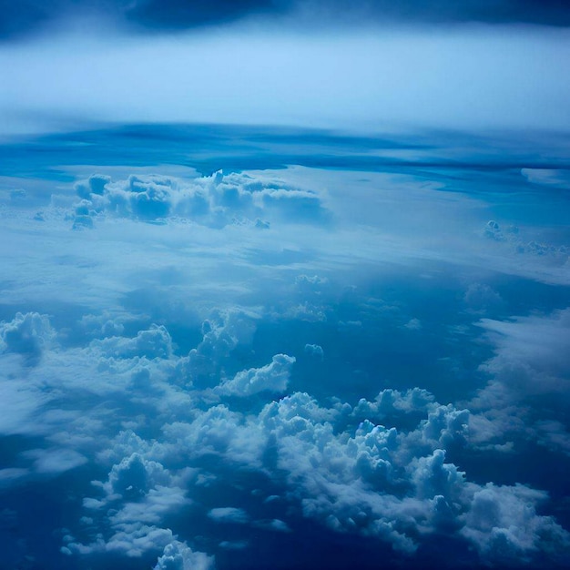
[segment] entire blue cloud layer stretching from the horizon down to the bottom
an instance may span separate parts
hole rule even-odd
[[[5,565],[566,567],[559,183],[202,175],[143,132],[0,178]]]

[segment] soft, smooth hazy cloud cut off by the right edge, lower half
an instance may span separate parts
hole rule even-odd
[[[505,438],[524,436],[565,453],[565,414],[560,406],[567,400],[570,383],[565,349],[569,315],[570,310],[564,309],[477,323],[494,346],[494,356],[480,366],[488,382],[468,402],[476,412],[471,422],[473,443],[500,449],[513,445]]]

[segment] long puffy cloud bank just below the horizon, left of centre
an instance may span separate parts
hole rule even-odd
[[[269,227],[260,220],[267,217],[294,223],[327,219],[320,196],[312,191],[247,174],[224,176],[221,171],[192,180],[131,175],[111,181],[94,175],[78,182],[76,193],[82,198],[75,207],[76,228],[92,226],[93,219],[103,213],[144,221],[189,219],[211,228],[240,219],[257,228]]]

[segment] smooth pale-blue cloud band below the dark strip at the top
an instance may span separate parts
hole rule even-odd
[[[0,117],[6,132],[69,130],[70,123],[94,120],[368,132],[386,125],[479,133],[491,127],[565,130],[567,64],[558,56],[567,49],[567,31],[452,25],[434,34],[408,25],[379,34],[374,25],[342,25],[321,26],[313,36],[296,25],[244,25],[212,34],[143,38],[114,36],[107,26],[101,36],[86,38],[80,26],[75,35],[59,34],[56,41],[39,36],[36,42],[0,46],[5,66]],[[144,68],[131,65],[143,59]],[[263,80],[252,79],[260,70]],[[42,97],[29,89],[31,76],[42,84]],[[303,89],[295,88],[300,85]],[[313,157],[311,164],[330,161],[327,155]],[[187,159],[180,155],[179,160]],[[275,158],[262,159],[275,164]],[[198,163],[203,160],[211,164],[200,154]],[[338,166],[349,162],[350,157],[335,160]],[[364,156],[359,162],[377,166],[382,159]],[[156,208],[166,206],[159,194],[141,199],[138,205],[132,198],[140,215],[155,215]],[[267,200],[279,201],[277,195]],[[314,199],[302,201],[312,215]]]

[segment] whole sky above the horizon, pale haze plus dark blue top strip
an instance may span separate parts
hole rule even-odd
[[[564,2],[5,2],[5,131],[567,130]]]

